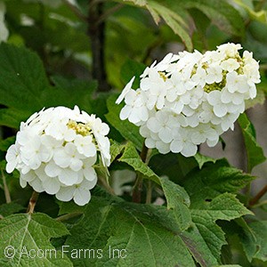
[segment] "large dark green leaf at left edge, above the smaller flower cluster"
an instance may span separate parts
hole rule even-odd
[[[27,111],[42,109],[40,95],[49,83],[37,54],[2,43],[0,58],[0,103]]]

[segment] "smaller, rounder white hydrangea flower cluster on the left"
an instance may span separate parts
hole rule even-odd
[[[85,111],[56,107],[43,109],[20,124],[16,142],[6,153],[6,172],[20,171],[27,182],[61,201],[74,199],[83,206],[97,182],[93,165],[98,156],[109,166],[109,126]]]

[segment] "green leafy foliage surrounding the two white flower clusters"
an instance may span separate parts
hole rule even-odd
[[[199,153],[183,158],[153,150],[144,163],[142,136],[136,126],[119,119],[121,106],[115,104],[130,78],[138,77],[174,45],[203,52],[227,42],[242,44],[260,61],[262,83],[247,108],[263,103],[267,3],[6,0],[4,4],[10,35],[0,44],[1,266],[267,266],[267,205],[249,190],[256,179],[251,171],[266,158],[247,115],[239,117],[247,151],[244,172],[226,158]],[[59,105],[77,105],[109,124],[111,175],[107,180],[99,170],[100,185],[86,206],[61,203],[42,193],[36,212],[28,214],[31,189],[20,188],[16,172],[5,173],[5,151],[14,142],[20,121],[43,107]],[[123,169],[142,177],[141,203],[133,203],[127,192],[113,194],[109,184]],[[163,205],[146,201],[149,188],[152,202],[161,198]],[[4,255],[7,246],[16,249],[11,259]],[[125,254],[111,257],[110,248]],[[30,257],[25,249],[50,249],[53,255]],[[77,255],[78,249],[101,253]]]

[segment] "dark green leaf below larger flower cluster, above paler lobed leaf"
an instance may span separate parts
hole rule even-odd
[[[244,174],[234,167],[222,166],[222,161],[217,161],[201,170],[190,172],[183,186],[190,195],[191,206],[200,208],[206,206],[206,201],[220,194],[237,193],[254,179],[250,174]]]

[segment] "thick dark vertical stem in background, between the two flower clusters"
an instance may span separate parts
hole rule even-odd
[[[102,9],[103,3],[89,0],[87,34],[91,39],[91,50],[93,54],[93,79],[97,80],[99,90],[101,92],[107,92],[109,91],[109,85],[107,82],[107,74],[104,63],[105,23],[104,21],[101,21],[101,16],[103,14]]]

